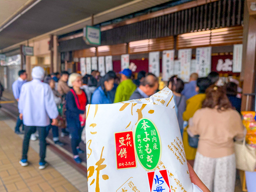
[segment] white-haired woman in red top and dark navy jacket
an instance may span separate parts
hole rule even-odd
[[[79,148],[81,142],[81,133],[85,126],[85,106],[87,98],[85,91],[80,89],[82,86],[81,75],[78,73],[70,74],[68,78],[68,86],[70,91],[66,94],[66,120],[68,123],[67,129],[71,134],[71,148],[74,155],[74,160],[81,163],[78,154],[83,153]]]

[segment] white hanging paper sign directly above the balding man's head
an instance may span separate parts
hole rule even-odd
[[[148,63],[148,71],[150,73],[155,74],[155,76],[159,77],[160,75],[160,60],[159,60],[159,51],[150,52],[149,53],[149,63]]]

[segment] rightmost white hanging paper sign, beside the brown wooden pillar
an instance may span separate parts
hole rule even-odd
[[[233,73],[240,73],[242,70],[243,44],[234,45],[233,50]]]

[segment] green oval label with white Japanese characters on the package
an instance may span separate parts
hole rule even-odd
[[[146,170],[154,170],[158,166],[162,144],[156,125],[148,118],[141,118],[134,130],[134,141],[138,160]]]

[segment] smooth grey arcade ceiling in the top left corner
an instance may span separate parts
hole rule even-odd
[[[1,2],[5,6],[8,2],[19,2],[19,6],[23,6],[27,0],[0,0]],[[128,2],[131,0],[41,0],[0,31],[0,50]],[[2,14],[1,4],[0,7]],[[19,9],[16,5],[14,7],[14,11],[6,12],[2,22]]]

